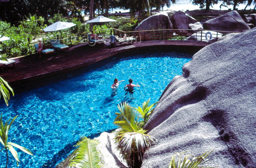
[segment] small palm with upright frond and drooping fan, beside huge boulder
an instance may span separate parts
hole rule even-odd
[[[128,164],[131,167],[140,167],[144,153],[157,143],[157,139],[145,134],[147,130],[138,126],[135,112],[129,104],[118,104],[118,109],[120,113],[116,113],[117,117],[114,120],[114,124],[121,128],[115,138],[118,141],[118,148],[123,155],[128,155]]]

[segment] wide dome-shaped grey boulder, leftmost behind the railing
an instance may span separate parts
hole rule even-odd
[[[134,31],[173,29],[172,23],[166,12],[158,13],[143,20]]]

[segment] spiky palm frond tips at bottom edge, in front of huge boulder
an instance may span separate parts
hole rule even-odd
[[[212,152],[212,151],[211,151]],[[211,164],[206,157],[211,152],[205,152],[203,155],[198,157],[193,157],[192,160],[189,160],[188,157],[192,155],[186,155],[184,160],[181,161],[181,153],[175,153],[170,161],[169,168],[214,168],[218,167],[217,165]],[[182,152],[185,153],[185,152]],[[175,157],[178,155],[178,161],[175,161]]]

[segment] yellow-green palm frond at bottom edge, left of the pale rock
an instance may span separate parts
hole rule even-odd
[[[98,140],[90,140],[82,137],[75,145],[78,148],[74,151],[69,166],[76,168],[100,168],[103,166],[101,152],[97,149]]]

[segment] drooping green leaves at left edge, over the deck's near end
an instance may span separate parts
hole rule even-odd
[[[4,57],[0,57],[0,60],[7,61]],[[14,96],[14,92],[12,88],[8,85],[7,81],[5,81],[3,78],[0,77],[0,97],[1,95],[4,97],[5,104],[8,106],[8,100],[10,100],[10,92],[8,89],[12,92],[12,96]]]

